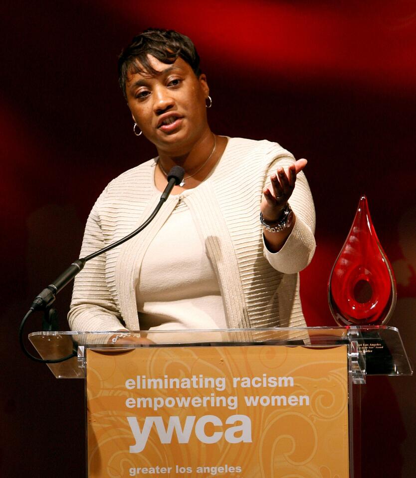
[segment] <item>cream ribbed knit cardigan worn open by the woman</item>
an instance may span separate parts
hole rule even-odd
[[[230,138],[214,173],[184,197],[213,264],[228,328],[304,327],[299,270],[315,250],[315,211],[305,175],[297,176],[290,205],[295,227],[277,253],[264,247],[259,222],[262,189],[277,166],[293,156],[277,143]],[[110,182],[85,228],[81,257],[121,239],[153,211],[155,160]],[[74,331],[140,330],[136,284],[143,256],[170,216],[179,196],[170,196],[144,231],[87,262],[74,283],[68,314]],[[175,254],[175,238],[170,239]],[[178,264],[178,274],[181,264]]]

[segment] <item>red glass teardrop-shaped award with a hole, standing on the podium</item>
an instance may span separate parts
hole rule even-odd
[[[396,305],[396,280],[362,196],[328,282],[331,313],[340,326],[385,324]]]

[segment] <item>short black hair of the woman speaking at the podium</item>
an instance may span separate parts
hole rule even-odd
[[[150,65],[148,55],[167,64],[175,63],[180,57],[190,65],[197,78],[202,73],[200,56],[190,38],[175,30],[148,28],[133,37],[130,45],[122,50],[118,58],[118,81],[124,98],[127,98],[126,81],[129,72],[146,71],[151,75],[159,73]]]

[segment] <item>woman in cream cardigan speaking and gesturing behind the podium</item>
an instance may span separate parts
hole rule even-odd
[[[133,117],[158,156],[110,182],[81,256],[136,229],[174,165],[185,169],[147,229],[86,263],[68,321],[76,331],[302,327],[299,271],[315,249],[306,160],[279,144],[214,134],[215,106],[192,41],[148,29],[119,58]],[[142,138],[138,138],[141,140]]]

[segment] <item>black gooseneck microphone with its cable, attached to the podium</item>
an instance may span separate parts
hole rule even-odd
[[[57,362],[61,362],[61,361],[70,359],[72,357],[75,357],[76,355],[75,353],[72,353],[71,355],[67,357],[63,357],[61,359],[38,359],[37,357],[32,356],[26,350],[24,346],[24,342],[23,342],[23,327],[27,318],[30,316],[32,312],[37,310],[44,310],[47,307],[49,307],[54,302],[56,294],[60,292],[72,279],[74,279],[74,277],[78,274],[78,272],[81,272],[81,270],[84,268],[85,263],[88,260],[91,260],[94,257],[97,257],[98,255],[101,255],[104,252],[107,252],[108,250],[113,249],[114,247],[117,247],[120,244],[123,244],[127,240],[134,238],[134,236],[136,236],[141,231],[143,231],[143,229],[145,229],[153,221],[155,216],[158,214],[163,203],[168,199],[169,195],[171,194],[173,187],[177,186],[178,184],[182,182],[184,178],[184,174],[185,174],[185,171],[180,166],[174,166],[169,171],[169,174],[167,176],[168,184],[160,197],[158,205],[156,206],[152,214],[149,216],[149,218],[141,226],[139,226],[135,231],[130,233],[128,236],[122,239],[119,239],[118,241],[113,242],[112,244],[93,252],[92,254],[89,254],[85,257],[75,260],[64,272],[62,272],[62,274],[57,279],[55,279],[51,284],[49,284],[45,289],[43,289],[35,297],[34,301],[32,302],[32,305],[30,306],[28,312],[24,316],[19,327],[20,347],[22,348],[23,353],[27,357],[29,357],[29,359],[35,360],[37,362],[43,362],[43,363],[57,363]]]

